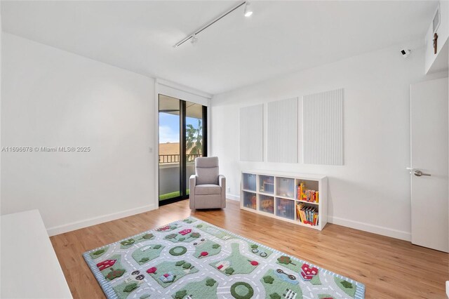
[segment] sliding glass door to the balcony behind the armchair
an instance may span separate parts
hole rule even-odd
[[[196,157],[206,157],[207,108],[159,95],[159,206],[189,197]]]

